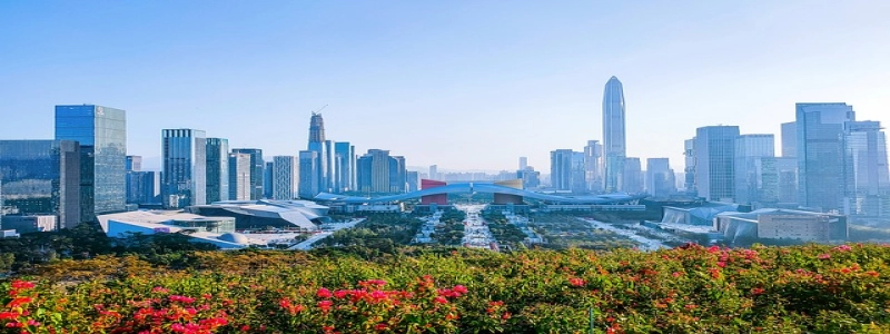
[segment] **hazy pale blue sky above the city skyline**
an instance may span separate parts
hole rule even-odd
[[[888,18],[877,0],[0,0],[0,138],[52,138],[55,105],[97,104],[127,110],[149,168],[162,128],[296,155],[329,105],[327,137],[359,153],[548,173],[551,150],[602,138],[616,76],[627,155],[680,171],[696,127],[778,140],[794,102],[890,124]]]

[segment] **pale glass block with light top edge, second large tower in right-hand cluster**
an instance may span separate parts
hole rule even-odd
[[[735,203],[755,207],[779,202],[779,166],[773,135],[741,135],[735,138]]]

